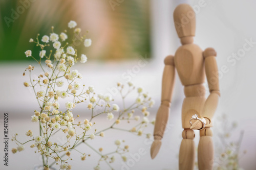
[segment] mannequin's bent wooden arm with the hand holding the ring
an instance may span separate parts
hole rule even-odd
[[[207,48],[204,53],[205,60],[205,74],[209,86],[210,94],[205,101],[202,117],[206,120],[206,127],[211,123],[211,119],[214,116],[214,113],[218,106],[218,101],[220,97],[219,89],[219,76],[218,76],[218,67],[216,62],[216,52],[213,48]],[[197,120],[190,129],[200,129],[202,128],[202,123]]]

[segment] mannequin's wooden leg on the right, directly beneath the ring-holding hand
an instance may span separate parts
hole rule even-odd
[[[214,164],[214,143],[212,142],[212,131],[205,128],[200,131],[198,144],[198,167],[199,170],[211,170]]]

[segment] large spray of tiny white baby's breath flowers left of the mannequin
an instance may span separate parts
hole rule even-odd
[[[74,37],[76,37],[76,40],[73,39],[72,42],[78,40],[83,42],[86,47],[91,46],[92,40],[86,39],[86,36],[80,36],[81,29],[76,28],[76,26],[77,23],[75,21],[68,23],[68,27],[73,30]],[[38,34],[36,41],[32,38],[29,40],[29,42],[33,42],[40,47],[39,54],[34,55],[30,50],[25,52],[26,57],[32,57],[44,72],[44,74],[38,75],[36,79],[32,79],[31,72],[34,70],[34,66],[29,65],[25,71],[29,71],[30,81],[24,82],[25,87],[33,88],[38,102],[39,109],[34,111],[31,116],[31,122],[38,123],[40,129],[39,134],[34,134],[31,130],[27,131],[26,136],[30,140],[24,143],[18,141],[16,134],[13,140],[18,146],[13,148],[12,152],[23,151],[24,144],[32,142],[30,148],[36,148],[37,152],[42,155],[42,163],[45,169],[49,169],[54,164],[58,164],[60,169],[71,169],[71,165],[68,163],[68,160],[71,159],[71,152],[78,152],[81,154],[81,160],[85,160],[90,154],[78,151],[76,147],[83,143],[92,148],[89,141],[103,137],[104,132],[107,130],[127,131],[138,136],[145,135],[150,138],[151,134],[143,134],[143,131],[148,123],[153,125],[155,123],[155,120],[151,122],[148,120],[148,115],[150,115],[148,108],[154,105],[154,101],[147,93],[143,92],[142,88],[136,88],[130,82],[126,86],[117,83],[117,89],[121,94],[123,103],[123,108],[120,109],[117,104],[113,104],[114,99],[112,99],[111,95],[96,94],[94,86],[87,87],[84,84],[82,85],[82,75],[78,70],[73,69],[73,66],[78,61],[81,63],[87,62],[87,56],[82,54],[78,57],[75,45],[67,42],[68,35],[66,33],[67,31],[65,30],[60,34],[56,34],[52,27],[52,33],[49,36],[44,35],[39,38]],[[47,50],[51,46],[55,50]],[[43,64],[43,60],[45,64]],[[25,72],[23,75],[25,76]],[[132,91],[136,91],[138,97],[132,105],[125,107],[125,98]],[[64,99],[68,101],[64,102],[65,104],[62,106],[61,103],[65,101]],[[86,105],[88,111],[91,112],[83,115],[87,118],[80,119],[79,115],[73,113],[76,105],[80,104]],[[141,112],[139,113],[140,116],[135,115],[138,114],[136,111]],[[112,122],[111,126],[100,131],[96,130],[97,123],[93,122],[93,120],[98,116],[105,116],[106,121]],[[137,122],[137,125],[131,129],[116,128],[116,125],[122,121],[128,123],[134,121]],[[64,135],[65,142],[54,141],[52,136],[55,134]],[[99,163],[95,169],[99,168],[100,161],[105,161],[111,167],[109,163],[115,161],[114,154],[119,154],[122,160],[125,161],[124,154],[128,152],[129,146],[121,147],[122,142],[124,141],[116,140],[114,143],[117,145],[117,149],[109,154],[102,154],[102,148],[99,151],[92,148],[100,155]],[[68,156],[68,158],[64,158],[65,156]],[[54,160],[54,162],[49,164],[49,159]]]

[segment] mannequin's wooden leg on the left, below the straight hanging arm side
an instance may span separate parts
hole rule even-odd
[[[179,169],[193,170],[195,166],[195,132],[191,129],[184,129],[179,154]]]

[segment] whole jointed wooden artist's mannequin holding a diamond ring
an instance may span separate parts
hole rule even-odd
[[[184,18],[184,16],[187,16]],[[162,78],[161,106],[156,115],[154,129],[154,142],[151,146],[151,157],[154,159],[161,147],[161,139],[168,121],[169,107],[175,81],[175,69],[184,86],[185,99],[182,105],[182,141],[179,152],[179,169],[194,169],[195,165],[195,133],[200,130],[198,145],[198,166],[200,170],[212,169],[214,160],[214,145],[212,142],[212,117],[217,109],[220,90],[216,52],[214,48],[201,48],[193,43],[196,30],[196,18],[193,8],[187,4],[177,6],[174,11],[174,21],[177,34],[182,46],[178,48],[175,56],[167,56],[164,59],[164,71]],[[209,92],[205,98],[203,83],[207,78]],[[205,118],[205,128],[200,120],[192,120],[192,115],[198,114]],[[194,121],[194,122],[193,122]]]

